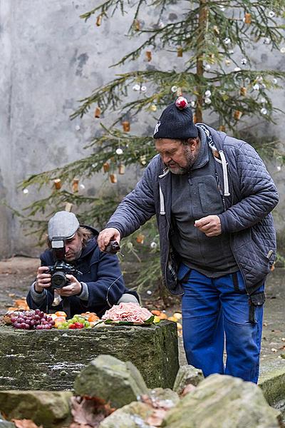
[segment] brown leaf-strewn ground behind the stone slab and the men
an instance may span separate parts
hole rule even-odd
[[[0,315],[14,306],[15,300],[25,298],[29,285],[36,276],[39,260],[35,258],[14,257],[0,261]],[[261,346],[261,372],[269,364],[285,367],[285,270],[275,269],[266,282],[266,304],[264,307],[264,330]],[[180,311],[178,300],[169,300],[166,306],[157,294],[142,296],[142,304],[148,309],[159,307],[167,315]],[[180,344],[180,364],[186,364]]]

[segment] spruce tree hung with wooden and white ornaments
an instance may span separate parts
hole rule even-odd
[[[170,5],[176,11],[171,19]],[[145,14],[146,8],[151,13]],[[143,118],[146,112],[148,122],[155,125],[162,109],[182,95],[192,107],[195,122],[207,117],[207,123],[237,136],[249,117],[274,122],[278,111],[271,95],[273,90],[283,88],[285,73],[262,69],[262,64],[253,66],[252,51],[254,46],[264,44],[268,51],[285,54],[284,0],[105,0],[81,18],[93,20],[94,31],[100,31],[104,21],[113,19],[118,11],[133,17],[125,34],[133,38],[136,47],[113,64],[114,72],[119,66],[126,71],[95,88],[71,116],[83,118],[90,109],[94,112],[101,133],[88,144],[93,153],[63,168],[32,175],[21,183],[24,189],[30,185],[52,187],[48,197],[26,208],[26,221],[37,228],[42,225],[42,231],[46,219],[38,220],[38,213],[46,213],[48,218],[59,208],[64,209],[66,203],[73,204],[85,224],[103,227],[123,195],[113,192],[104,198],[86,196],[78,191],[78,180],[103,171],[115,184],[130,165],[140,165],[142,169],[147,165],[155,155],[152,135],[136,132],[132,118]],[[156,17],[155,24],[146,21],[148,16]],[[150,66],[154,57],[165,54],[172,58],[167,69]],[[142,57],[145,66],[130,71],[128,63]],[[110,124],[105,117],[112,111],[116,118]],[[269,141],[269,145],[274,143]],[[264,145],[257,146],[257,150],[264,151]],[[152,281],[157,283],[160,265],[155,222],[148,222],[122,244],[125,255],[132,253],[141,259],[142,248],[151,253],[151,258],[143,258],[147,263],[140,269],[137,282],[147,286]]]

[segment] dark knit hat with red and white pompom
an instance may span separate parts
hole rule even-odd
[[[191,108],[188,106],[186,98],[182,96],[162,111],[153,134],[153,138],[170,138],[172,140],[187,140],[197,136],[198,131],[193,123]]]

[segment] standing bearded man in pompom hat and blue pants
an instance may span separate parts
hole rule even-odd
[[[101,231],[100,250],[156,215],[165,285],[182,295],[188,363],[257,383],[274,182],[248,143],[195,125],[185,98],[165,108],[154,138],[158,155]]]

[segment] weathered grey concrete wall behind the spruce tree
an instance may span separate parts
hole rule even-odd
[[[86,156],[83,146],[98,132],[98,122],[93,111],[74,121],[69,115],[80,98],[114,78],[120,69],[108,67],[133,46],[134,41],[125,37],[131,16],[115,14],[115,19],[104,20],[100,27],[95,26],[95,18],[86,23],[79,19],[96,4],[96,0],[0,0],[0,198],[16,210],[45,194],[36,188],[24,194],[17,188],[21,180]],[[168,15],[175,5],[169,8]],[[149,14],[145,11],[147,19]],[[274,55],[265,45],[257,46],[254,61],[264,68],[273,61],[276,68],[284,69],[285,56]],[[165,55],[156,56],[154,65],[166,68]],[[127,68],[138,66],[145,66],[142,58]],[[284,91],[274,98],[284,108]],[[260,118],[261,138],[265,133],[283,140],[284,116],[276,119],[276,126],[268,126]],[[212,123],[212,118],[207,122]],[[137,123],[136,130],[145,131],[153,124],[155,118],[148,118],[147,123]],[[276,165],[270,169],[284,200],[284,171]],[[100,178],[94,178],[93,194],[100,185]],[[283,202],[279,218],[282,208]],[[0,205],[0,219],[0,258],[38,254],[33,238],[24,235],[19,218],[4,205]],[[283,219],[277,223],[282,229]]]

